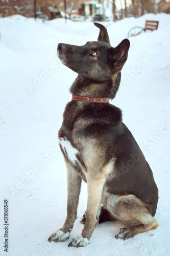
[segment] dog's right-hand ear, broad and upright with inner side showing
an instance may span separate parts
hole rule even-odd
[[[129,47],[130,41],[124,39],[117,47],[110,49],[110,59],[116,69],[121,70],[123,68],[128,58]]]

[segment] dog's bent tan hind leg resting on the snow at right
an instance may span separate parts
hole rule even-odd
[[[138,233],[155,229],[159,226],[145,204],[133,195],[108,198],[107,209],[128,227],[121,228],[115,238],[128,239]]]

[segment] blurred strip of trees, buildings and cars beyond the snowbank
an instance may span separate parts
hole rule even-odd
[[[170,0],[0,0],[0,17],[116,21],[160,12],[170,13]]]

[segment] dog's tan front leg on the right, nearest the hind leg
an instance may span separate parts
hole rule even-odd
[[[87,178],[88,201],[86,210],[86,223],[82,230],[81,236],[71,240],[68,246],[82,247],[90,243],[93,230],[98,223],[97,216],[100,210],[103,186],[105,179],[102,177]]]

